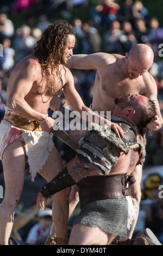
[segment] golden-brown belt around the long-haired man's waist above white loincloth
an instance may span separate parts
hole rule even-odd
[[[42,131],[39,121],[22,117],[16,113],[5,113],[3,119],[24,130]]]

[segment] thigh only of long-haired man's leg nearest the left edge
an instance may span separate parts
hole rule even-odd
[[[24,183],[24,169],[26,166],[26,154],[22,141],[15,141],[8,145],[3,153],[2,164],[5,194],[8,192],[21,193]]]

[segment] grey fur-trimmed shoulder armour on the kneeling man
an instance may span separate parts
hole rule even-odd
[[[92,130],[88,129],[85,131],[84,137],[82,137],[82,139],[79,141],[80,146],[77,149],[77,153],[82,154],[87,160],[89,160],[90,163],[93,163],[96,167],[99,167],[99,173],[101,174],[108,175],[110,173],[111,166],[118,162],[120,150],[127,155],[130,148],[137,151],[140,149],[140,147],[142,147],[140,141],[128,147],[121,138],[117,137],[115,132],[105,132],[103,131],[102,126],[95,123],[91,123],[90,125]],[[99,157],[109,166],[109,168],[106,168],[102,164],[93,161],[93,159],[91,159],[91,157],[82,149],[89,150],[94,157]]]

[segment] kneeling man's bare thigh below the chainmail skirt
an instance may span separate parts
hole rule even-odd
[[[75,224],[71,230],[69,245],[107,245],[108,234],[97,227]]]

